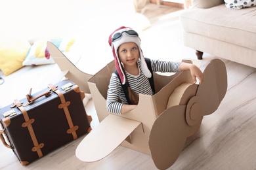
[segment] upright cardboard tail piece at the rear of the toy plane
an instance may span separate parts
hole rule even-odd
[[[85,93],[90,93],[87,81],[93,75],[84,73],[83,71],[77,69],[74,63],[72,63],[68,58],[66,58],[66,56],[53,44],[53,42],[48,41],[47,48],[51,54],[51,57],[57,63],[58,67],[60,67],[60,70],[63,73],[65,73],[64,76],[75,82],[75,84],[79,86],[81,91]]]

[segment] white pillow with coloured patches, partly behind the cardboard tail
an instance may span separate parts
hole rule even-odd
[[[30,47],[23,65],[43,65],[54,63],[47,49],[47,41],[35,41]],[[74,44],[74,39],[53,39],[51,42],[60,49],[61,52],[69,52],[71,46]]]

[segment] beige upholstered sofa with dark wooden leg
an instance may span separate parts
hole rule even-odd
[[[234,10],[224,0],[192,0],[192,8],[180,16],[184,45],[196,50],[256,67],[256,7]]]

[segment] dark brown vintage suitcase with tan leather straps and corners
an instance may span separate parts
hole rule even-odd
[[[31,93],[31,91],[30,91]],[[77,139],[91,130],[83,105],[85,93],[70,80],[0,109],[0,139],[22,165]]]

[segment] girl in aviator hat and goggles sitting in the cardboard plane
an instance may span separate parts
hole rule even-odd
[[[202,71],[190,63],[150,59],[151,67],[149,66],[149,69],[140,48],[139,35],[129,27],[116,29],[110,35],[108,43],[112,48],[116,65],[116,73],[112,73],[110,78],[106,99],[109,112],[115,114],[129,112],[137,107],[139,93],[154,94],[149,80],[153,76],[150,69],[162,73],[190,70],[194,83],[196,83],[196,77],[200,80],[200,84],[203,82]],[[128,96],[125,95],[122,88],[123,84],[127,86]]]

